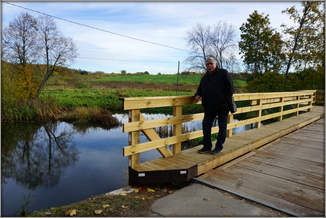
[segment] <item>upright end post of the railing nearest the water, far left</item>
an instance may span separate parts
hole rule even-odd
[[[140,109],[129,110],[129,123],[140,121]],[[131,131],[128,133],[129,146],[139,144],[140,142],[140,130]],[[138,167],[140,164],[139,153],[131,154],[128,156],[128,165],[131,168]],[[130,181],[129,181],[130,182]]]

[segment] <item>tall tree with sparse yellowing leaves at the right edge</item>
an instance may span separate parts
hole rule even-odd
[[[316,65],[316,61],[321,61],[325,71],[325,7],[321,7],[322,4],[321,1],[302,1],[302,10],[292,6],[282,11],[295,23],[291,27],[281,25],[283,33],[289,35],[286,41],[286,77],[292,65],[301,70]]]

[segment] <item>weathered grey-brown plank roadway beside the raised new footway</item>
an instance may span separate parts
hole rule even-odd
[[[277,125],[282,123],[286,122]],[[259,137],[262,133],[257,131],[254,135]],[[294,216],[325,217],[325,118],[208,170],[193,181]]]

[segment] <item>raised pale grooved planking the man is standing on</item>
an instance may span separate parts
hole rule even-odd
[[[300,114],[299,116],[294,116],[294,117],[290,117],[288,119],[282,120],[281,122],[267,124],[260,128],[257,128],[257,129],[251,129],[251,130],[247,130],[247,131],[244,131],[241,133],[234,134],[232,137],[226,139],[226,142],[224,143],[223,151],[217,155],[211,154],[211,153],[204,153],[204,154],[198,153],[197,150],[202,148],[202,145],[200,145],[200,146],[196,146],[194,148],[184,150],[178,155],[173,155],[168,158],[161,157],[161,158],[157,158],[155,161],[151,160],[151,161],[141,163],[138,167],[135,167],[134,169],[137,171],[151,171],[151,170],[173,170],[176,168],[178,168],[178,169],[182,168],[181,165],[176,162],[180,162],[182,164],[182,166],[186,167],[186,168],[190,168],[190,167],[196,166],[196,165],[200,166],[200,165],[206,164],[208,162],[214,161],[216,158],[220,158],[222,155],[232,155],[232,152],[234,152],[238,149],[244,149],[246,146],[250,146],[253,143],[259,143],[259,141],[263,138],[265,140],[267,140],[267,142],[270,141],[270,140],[268,140],[268,138],[271,138],[271,140],[274,140],[276,137],[276,134],[280,134],[281,136],[284,135],[284,134],[282,134],[282,132],[284,132],[285,129],[295,128],[296,126],[300,125],[301,123],[307,122],[307,120],[313,119],[314,117],[321,116],[320,114],[322,114],[322,109],[320,109],[320,108],[323,108],[323,107],[314,106],[313,112],[303,113],[303,114]],[[316,112],[314,112],[315,110],[316,110]],[[215,142],[216,141],[212,142],[213,149],[215,147]],[[261,144],[261,145],[263,145],[263,144]],[[316,145],[318,146],[318,144],[316,144]],[[233,158],[235,158],[235,157],[236,156],[234,156]],[[233,159],[233,158],[231,158],[231,159]],[[160,159],[164,159],[162,164],[160,164]],[[173,160],[174,161],[173,163],[175,165],[174,164],[172,164],[172,165],[164,164],[165,161],[168,159]]]

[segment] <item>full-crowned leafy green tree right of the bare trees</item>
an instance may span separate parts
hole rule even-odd
[[[249,15],[246,23],[240,27],[242,32],[239,42],[239,54],[243,54],[244,65],[249,72],[252,72],[252,91],[271,92],[272,90],[284,90],[284,87],[271,85],[264,86],[263,82],[271,83],[268,78],[275,77],[284,68],[284,41],[280,33],[270,27],[269,15],[259,14],[255,10]],[[268,73],[266,78],[262,78],[264,73]],[[262,88],[264,87],[264,88]],[[271,87],[272,90],[268,90]]]

